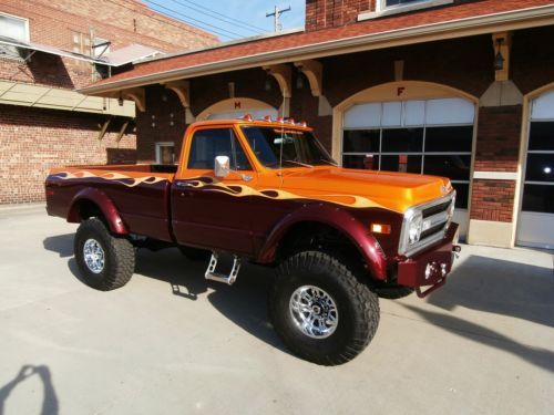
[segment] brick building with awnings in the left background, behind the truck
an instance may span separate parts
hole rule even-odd
[[[0,204],[43,200],[51,166],[134,163],[134,102],[74,90],[131,61],[216,42],[135,0],[2,0]]]

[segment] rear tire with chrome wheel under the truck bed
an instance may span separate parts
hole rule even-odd
[[[98,218],[86,219],[73,242],[75,260],[84,283],[101,291],[125,286],[135,268],[135,250],[125,238],[110,234]]]

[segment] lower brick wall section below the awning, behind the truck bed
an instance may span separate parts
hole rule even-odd
[[[127,129],[115,142],[114,123],[98,141],[104,116],[0,105],[0,204],[41,201],[54,166],[135,163],[136,138]]]

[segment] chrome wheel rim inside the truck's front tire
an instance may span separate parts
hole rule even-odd
[[[290,317],[298,329],[312,339],[331,335],[339,322],[337,304],[329,293],[315,286],[302,286],[293,292]]]

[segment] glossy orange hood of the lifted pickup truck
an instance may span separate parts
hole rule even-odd
[[[444,177],[355,170],[341,167],[283,170],[283,189],[307,198],[352,207],[382,207],[404,212],[452,191]]]

